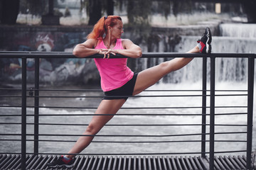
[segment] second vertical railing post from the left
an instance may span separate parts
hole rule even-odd
[[[38,154],[39,123],[39,58],[35,59],[35,99],[34,99],[34,154]]]

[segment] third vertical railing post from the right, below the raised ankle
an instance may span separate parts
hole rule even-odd
[[[203,57],[203,78],[202,78],[202,137],[201,157],[206,157],[206,88],[207,88],[207,57]]]

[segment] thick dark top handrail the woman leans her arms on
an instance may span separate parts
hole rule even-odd
[[[91,55],[86,58],[102,58],[103,55]],[[0,58],[77,58],[72,52],[0,52]],[[163,58],[163,57],[253,57],[256,58],[255,54],[252,53],[211,53],[211,55],[201,53],[179,53],[179,52],[143,52],[142,58]],[[110,58],[127,58],[123,55],[110,55]]]

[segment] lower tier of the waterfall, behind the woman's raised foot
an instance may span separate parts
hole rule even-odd
[[[182,37],[181,43],[176,46],[177,52],[186,52],[194,45],[195,36]],[[192,44],[192,45],[190,45]],[[213,36],[213,53],[256,53],[256,38],[234,38]],[[247,59],[242,58],[217,58],[216,60],[216,80],[217,81],[246,81]],[[210,74],[210,60],[208,60],[208,75]],[[184,77],[183,81],[196,81],[201,79],[202,60],[194,59],[184,67],[186,74],[193,74],[192,77]],[[196,71],[197,74],[194,74]]]

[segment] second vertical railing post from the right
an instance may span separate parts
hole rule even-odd
[[[210,57],[210,170],[214,169],[215,57]]]

